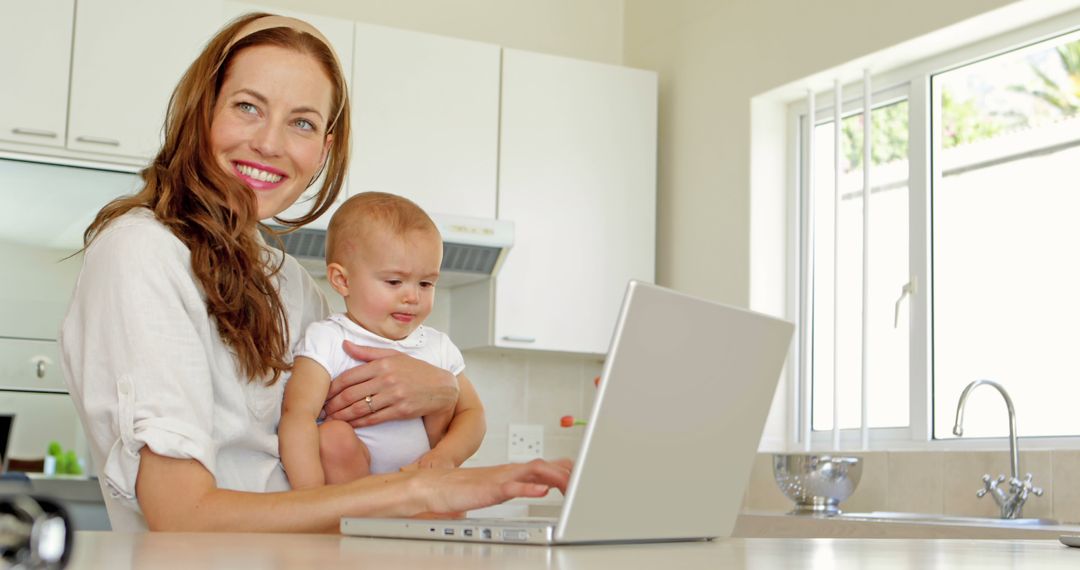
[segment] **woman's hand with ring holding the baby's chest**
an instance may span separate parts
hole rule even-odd
[[[458,380],[450,372],[390,349],[349,341],[342,348],[367,364],[346,370],[330,382],[323,406],[326,418],[364,428],[454,410]]]

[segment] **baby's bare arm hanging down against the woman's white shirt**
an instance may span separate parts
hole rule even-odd
[[[285,384],[285,398],[278,425],[281,462],[294,489],[326,484],[319,454],[319,412],[326,401],[330,376],[321,364],[297,356]]]

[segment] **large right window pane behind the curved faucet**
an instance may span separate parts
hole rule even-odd
[[[1080,435],[1080,39],[937,73],[931,92],[934,437],[954,437],[980,378],[1027,411],[1024,435]],[[1001,435],[989,411],[966,433]]]

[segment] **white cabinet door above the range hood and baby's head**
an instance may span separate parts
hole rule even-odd
[[[499,48],[356,24],[350,189],[495,217]]]

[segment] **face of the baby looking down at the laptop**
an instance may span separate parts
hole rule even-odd
[[[349,314],[367,330],[391,340],[409,336],[435,302],[443,261],[437,232],[380,231],[366,236],[342,266],[348,271]]]

